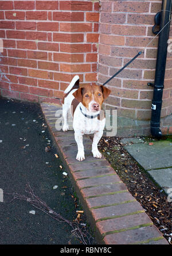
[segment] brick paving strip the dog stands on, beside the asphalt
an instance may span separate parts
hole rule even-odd
[[[88,136],[83,139],[85,160],[76,160],[74,132],[55,128],[55,113],[61,106],[42,103],[41,108],[97,243],[169,244],[104,156],[93,158]]]

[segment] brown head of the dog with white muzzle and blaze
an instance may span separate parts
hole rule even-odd
[[[101,110],[103,101],[110,95],[111,90],[99,85],[85,85],[73,93],[73,96],[90,112]]]

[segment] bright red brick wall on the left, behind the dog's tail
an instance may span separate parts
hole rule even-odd
[[[96,82],[97,1],[0,1],[0,38],[4,97],[54,102],[75,74]]]

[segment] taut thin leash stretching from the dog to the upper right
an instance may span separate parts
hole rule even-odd
[[[162,11],[166,11],[166,10],[161,10],[161,12],[162,12]],[[169,12],[169,11],[167,11],[167,12]],[[171,19],[172,19],[172,18],[171,18]],[[146,45],[146,47],[148,47],[148,45],[150,45],[150,44],[152,43],[152,41],[155,40],[155,38],[159,35],[159,33],[161,33],[161,31],[170,23],[171,19],[166,23],[165,26],[163,26],[163,28],[162,28],[161,30],[159,30],[159,32],[157,33],[157,35],[153,37],[153,39]],[[143,53],[144,53],[144,49],[146,49],[146,47],[144,47],[144,48],[143,48],[143,51],[138,52],[138,54],[136,54],[136,55],[134,56],[134,58],[132,58],[129,62],[126,63],[126,65],[124,65],[122,68],[120,68],[120,70],[118,70],[114,75],[112,75],[111,78],[109,78],[107,81],[105,81],[105,82],[103,83],[103,86],[106,85],[108,82],[110,82],[111,79],[113,79],[114,77],[116,77],[116,75],[118,75],[121,71],[123,71],[124,68],[126,68],[131,62],[133,62],[136,58],[138,58],[138,56],[140,56],[141,54],[143,54]]]

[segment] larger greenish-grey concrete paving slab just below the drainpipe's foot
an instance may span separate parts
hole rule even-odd
[[[161,169],[172,166],[172,143],[166,140],[127,145],[124,148],[144,168],[144,170]]]

